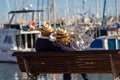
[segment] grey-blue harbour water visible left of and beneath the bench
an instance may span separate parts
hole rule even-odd
[[[111,74],[89,74],[90,80],[113,80]],[[27,80],[17,64],[0,63],[0,80]],[[43,76],[39,80],[44,80]],[[48,80],[62,80],[62,74],[49,74]],[[72,74],[72,80],[83,80],[80,74]]]

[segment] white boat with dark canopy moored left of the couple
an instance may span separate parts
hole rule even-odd
[[[35,12],[41,10],[18,10],[10,11],[10,21],[0,29],[0,61],[1,62],[16,62],[16,58],[12,57],[15,51],[35,51],[35,40],[40,36],[39,23],[33,18]],[[32,19],[23,19],[19,22],[15,16],[20,17],[19,14],[32,13]],[[28,16],[27,16],[28,17]]]

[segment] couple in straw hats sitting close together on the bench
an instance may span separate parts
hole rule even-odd
[[[36,40],[35,49],[39,51],[75,51],[71,48],[71,36],[64,28],[59,28],[55,31],[55,28],[50,26],[49,23],[42,25],[40,28],[41,37]],[[50,35],[53,33],[56,38],[55,41],[51,41]],[[81,74],[84,80],[89,80],[87,74]],[[71,80],[71,74],[63,74],[63,80]]]

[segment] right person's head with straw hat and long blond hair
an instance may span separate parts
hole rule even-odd
[[[71,43],[70,33],[64,28],[58,28],[56,34],[56,41],[64,46],[69,46]]]

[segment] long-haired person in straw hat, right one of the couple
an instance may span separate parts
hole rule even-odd
[[[53,47],[56,51],[76,51],[71,46],[71,35],[70,33],[64,28],[58,28],[56,34],[53,34],[56,37],[56,41],[54,42]],[[59,47],[59,48],[58,48]],[[81,74],[84,80],[90,80],[87,74]],[[71,74],[64,73],[63,80],[71,80]]]

